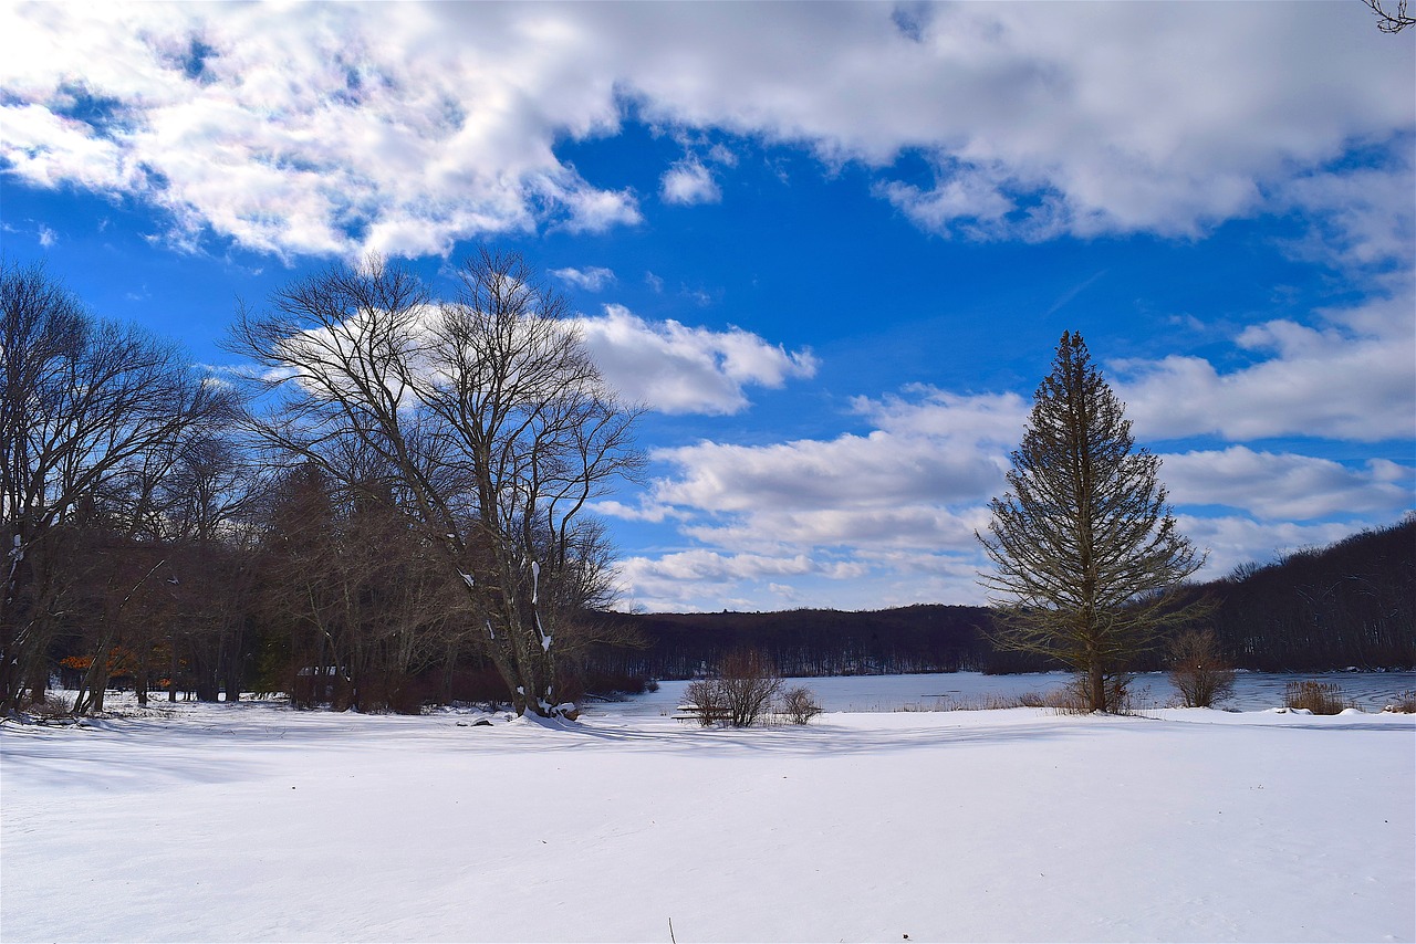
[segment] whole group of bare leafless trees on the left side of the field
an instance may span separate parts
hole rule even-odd
[[[289,692],[554,715],[617,630],[588,502],[640,466],[565,299],[515,255],[452,300],[371,259],[242,307],[234,381],[0,270],[0,710]]]

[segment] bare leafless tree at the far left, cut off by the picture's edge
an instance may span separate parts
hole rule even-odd
[[[185,436],[231,408],[176,348],[91,317],[40,267],[0,267],[0,710],[42,691],[58,543],[81,501],[154,481]],[[144,519],[150,494],[129,522]]]

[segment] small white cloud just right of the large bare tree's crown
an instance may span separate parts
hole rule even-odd
[[[742,328],[651,324],[617,304],[578,324],[615,389],[663,413],[736,413],[748,406],[748,386],[777,388],[817,367],[810,351],[789,352]]]

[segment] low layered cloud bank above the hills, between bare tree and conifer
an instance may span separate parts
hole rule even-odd
[[[673,517],[705,549],[626,562],[626,596],[651,609],[711,609],[705,600],[760,599],[765,579],[792,577],[816,606],[977,599],[973,535],[1003,485],[1022,398],[913,386],[857,399],[852,410],[875,429],[656,450],[673,473],[641,507],[602,511]]]

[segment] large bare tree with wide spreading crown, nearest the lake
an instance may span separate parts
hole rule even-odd
[[[484,251],[459,280],[435,301],[382,260],[334,267],[242,311],[232,348],[265,368],[262,437],[392,488],[469,594],[515,709],[549,715],[556,634],[607,589],[583,512],[639,468],[637,413],[520,256]]]

